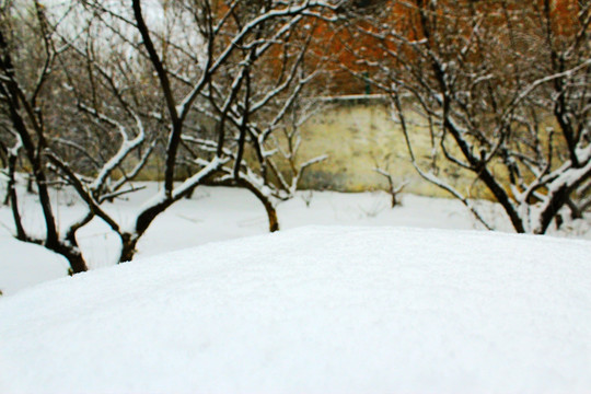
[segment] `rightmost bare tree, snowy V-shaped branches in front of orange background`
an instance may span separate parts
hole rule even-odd
[[[419,174],[490,228],[438,169],[472,173],[517,232],[544,233],[591,177],[591,4],[389,4],[389,18],[359,28],[383,58],[359,56],[372,73],[356,74],[390,95]],[[432,143],[427,163],[413,144],[417,114]]]

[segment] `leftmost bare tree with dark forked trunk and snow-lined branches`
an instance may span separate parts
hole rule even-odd
[[[80,91],[72,93],[76,90],[72,76],[81,73],[83,68],[77,66],[74,70],[71,63],[65,63],[73,61],[74,58],[68,53],[73,51],[76,55],[76,47],[59,37],[59,22],[49,21],[44,5],[38,1],[30,5],[24,14],[16,13],[10,4],[2,9],[0,28],[0,95],[7,109],[7,120],[11,125],[8,134],[14,141],[13,148],[8,149],[8,193],[15,236],[24,242],[44,245],[62,255],[69,262],[71,271],[80,273],[88,269],[88,264],[79,248],[76,234],[95,217],[107,222],[114,230],[119,229],[101,205],[107,199],[130,192],[121,190],[121,187],[139,172],[147,155],[131,173],[123,170],[123,163],[144,143],[147,137],[143,123],[137,114],[127,112],[135,120],[130,129],[125,119],[113,118],[105,111],[100,112],[97,100],[88,104],[78,94]],[[66,10],[66,13],[70,11],[71,9]],[[18,42],[23,32],[30,35],[30,42]],[[36,53],[40,55],[26,54],[20,45],[27,50],[33,49],[32,45],[37,45],[40,50]],[[94,72],[91,71],[90,74]],[[96,80],[91,79],[89,83],[93,85],[93,82]],[[105,76],[102,76],[101,82],[105,83]],[[96,93],[93,85],[91,95],[95,97]],[[101,100],[108,99],[103,95]],[[85,115],[92,120],[84,118]],[[81,136],[104,136],[103,143],[108,140],[109,149],[89,143],[90,139]],[[68,151],[74,153],[68,154]],[[20,154],[25,162],[23,166],[31,169],[45,221],[45,234],[38,234],[34,229],[25,229],[22,221],[19,194],[14,186]],[[68,161],[66,155],[71,161]],[[93,166],[84,165],[84,160],[74,160],[80,155],[88,159]],[[120,174],[117,174],[116,182],[112,182],[116,171]],[[50,193],[51,185],[60,183],[60,178],[71,185],[88,206],[88,212],[82,218],[65,228],[58,225]]]

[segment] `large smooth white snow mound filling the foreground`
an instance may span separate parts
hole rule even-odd
[[[2,393],[591,389],[591,243],[302,228],[0,299]]]

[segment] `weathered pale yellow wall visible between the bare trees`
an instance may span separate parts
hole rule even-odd
[[[413,120],[412,139],[422,167],[430,162],[430,138],[418,116]],[[311,118],[302,128],[299,161],[328,154],[326,162],[315,164],[302,179],[302,188],[340,192],[373,190],[386,187],[385,178],[373,169],[387,165],[398,182],[408,181],[405,192],[421,195],[450,195],[424,181],[413,167],[399,125],[390,116],[385,103],[373,100],[345,101],[332,104]],[[474,177],[443,167],[440,175],[463,193],[478,194]]]

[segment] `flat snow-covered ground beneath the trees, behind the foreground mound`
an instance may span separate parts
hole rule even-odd
[[[3,184],[1,185],[3,186]],[[127,200],[117,200],[107,210],[117,212],[117,218],[130,217],[141,201],[158,187],[155,183],[130,195]],[[0,196],[4,192],[0,190]],[[83,210],[80,202],[67,190],[56,190],[55,207],[62,223],[78,219]],[[279,221],[282,229],[294,229],[309,224],[322,225],[405,225],[439,229],[482,229],[456,200],[428,198],[413,195],[403,197],[402,207],[391,209],[389,196],[383,192],[341,194],[302,192],[294,199],[279,205]],[[40,212],[34,196],[21,201],[24,223],[27,229],[42,231]],[[310,200],[306,207],[305,200]],[[488,204],[484,208],[490,221],[505,231],[511,231],[505,215]],[[587,221],[567,223],[560,236],[591,239],[589,218]],[[12,216],[7,207],[0,208],[0,290],[4,296],[49,279],[66,276],[66,262],[40,246],[23,244],[12,239]],[[262,205],[247,192],[233,188],[198,188],[190,200],[182,200],[159,217],[138,245],[138,257],[153,256],[163,252],[193,247],[212,241],[223,241],[267,232],[267,219]],[[118,239],[100,222],[93,222],[79,232],[82,251],[92,268],[113,265],[118,252]]]

